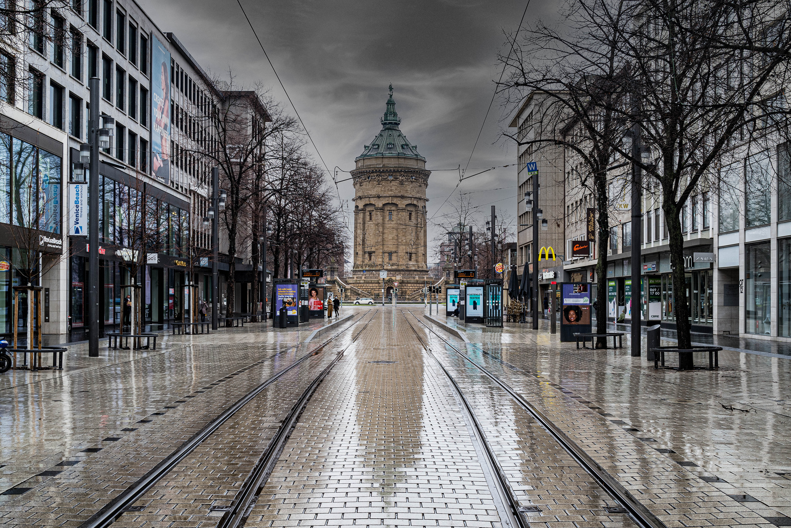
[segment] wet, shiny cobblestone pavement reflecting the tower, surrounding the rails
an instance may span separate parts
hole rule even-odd
[[[530,325],[433,316],[443,327],[422,306],[344,310],[354,317],[320,335],[320,322],[259,323],[166,336],[157,351],[102,348],[98,359],[78,344],[64,370],[0,374],[0,525],[81,526],[240,397],[316,351],[112,523],[218,526],[292,405],[343,350],[238,526],[517,526],[440,363],[527,510],[521,526],[638,526],[608,511],[618,500],[471,362],[551,420],[656,526],[791,526],[782,347],[744,340],[731,348],[758,350],[726,348],[719,370],[677,372],[631,358],[628,333],[623,349],[577,350]]]

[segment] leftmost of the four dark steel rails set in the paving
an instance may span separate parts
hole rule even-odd
[[[112,523],[118,519],[119,515],[123,514],[127,508],[140,500],[140,498],[146,492],[148,492],[149,489],[153,488],[153,486],[157,484],[157,482],[160,481],[162,477],[165,477],[167,473],[169,473],[179,462],[184,460],[184,458],[186,458],[187,455],[195,450],[196,447],[205,442],[206,439],[214,433],[214,431],[217,431],[222,424],[225,424],[225,422],[229,420],[231,416],[236,414],[240,408],[244,407],[244,405],[247,405],[249,401],[261,393],[263,389],[266,389],[272,383],[276,382],[278,378],[281,378],[283,374],[286,374],[294,367],[297,367],[301,363],[305,362],[305,360],[309,359],[313,355],[318,354],[322,348],[326,347],[327,344],[330,344],[332,340],[335,340],[337,337],[343,334],[343,332],[346,332],[346,330],[350,329],[356,323],[361,321],[361,319],[358,321],[352,321],[351,325],[346,326],[346,328],[340,330],[334,336],[325,340],[324,343],[320,344],[316,348],[313,348],[300,359],[297,359],[297,361],[291,363],[288,367],[279,370],[276,374],[271,376],[271,378],[268,378],[265,382],[250,390],[243,397],[240,397],[240,399],[237,400],[233,405],[231,405],[229,408],[226,408],[225,411],[216,416],[214,420],[211,420],[208,424],[203,426],[200,431],[196,432],[195,435],[192,435],[190,439],[184,441],[184,443],[176,448],[176,450],[174,450],[171,454],[168,454],[167,457],[150,469],[148,473],[140,477],[137,481],[134,481],[134,483],[124,489],[123,492],[120,492],[118,496],[115,496],[115,498],[113,498],[109,503],[105,504],[104,507],[101,507],[99,511],[91,515],[89,519],[86,519],[84,522],[82,522],[79,525],[80,528],[104,528],[106,526],[112,525]],[[358,333],[358,336],[359,335],[360,334]]]

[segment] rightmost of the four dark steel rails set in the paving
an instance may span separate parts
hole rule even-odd
[[[412,312],[410,312],[412,313]],[[626,511],[626,514],[630,516],[630,518],[638,524],[641,528],[667,528],[664,525],[664,522],[657,519],[656,515],[653,515],[651,511],[645,505],[632,496],[632,494],[626,490],[617,480],[615,477],[612,477],[610,473],[607,473],[607,470],[604,469],[598,462],[593,460],[593,458],[585,452],[576,442],[569,438],[565,432],[563,432],[557,425],[552,422],[547,416],[543,414],[543,412],[539,411],[536,406],[532,405],[529,401],[527,401],[524,397],[517,393],[508,383],[498,378],[498,376],[492,374],[489,370],[485,367],[482,367],[475,361],[473,361],[469,356],[464,354],[464,352],[460,351],[456,348],[450,341],[446,340],[445,337],[438,334],[434,329],[432,329],[429,325],[426,325],[423,321],[420,320],[419,317],[415,316],[412,313],[412,317],[414,317],[418,322],[420,322],[423,326],[426,327],[430,332],[432,332],[435,336],[440,338],[448,347],[452,348],[456,354],[460,355],[462,358],[466,359],[467,362],[471,363],[475,368],[483,372],[487,378],[490,378],[493,382],[497,383],[501,389],[505,390],[506,393],[509,394],[510,397],[513,398],[522,408],[528,411],[533,418],[538,421],[541,426],[547,430],[547,432],[552,435],[555,441],[562,446],[566,453],[570,454],[570,456],[574,459],[577,464],[581,466],[582,469],[585,469],[585,472],[588,473],[593,479],[596,481],[596,484],[599,484],[602,489],[609,496],[612,497],[623,509]]]

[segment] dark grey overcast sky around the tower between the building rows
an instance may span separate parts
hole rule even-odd
[[[204,69],[233,70],[243,85],[271,85],[274,97],[288,104],[236,0],[138,2]],[[426,166],[464,168],[500,74],[497,55],[505,32],[516,30],[525,3],[242,0],[242,5],[324,161],[331,170],[335,165],[350,170],[381,128],[391,82],[401,130],[417,144]],[[534,2],[525,21],[552,19],[555,5]],[[516,149],[501,140],[510,116],[499,103],[495,100],[486,120],[470,169],[516,161]],[[458,190],[441,205],[458,179],[455,171],[439,170],[429,179],[430,262],[432,240],[440,231],[433,223],[452,211]],[[465,181],[460,192],[474,192],[467,196],[480,206],[483,224],[491,204],[515,216],[516,180],[515,166],[495,169]],[[348,200],[347,211],[353,210],[351,182],[339,184],[339,193]]]

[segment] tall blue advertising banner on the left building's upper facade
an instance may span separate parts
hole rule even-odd
[[[170,183],[170,51],[152,35],[151,172]]]

